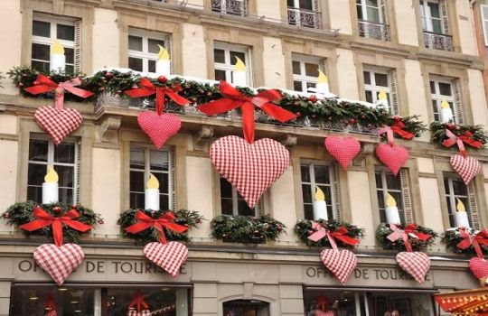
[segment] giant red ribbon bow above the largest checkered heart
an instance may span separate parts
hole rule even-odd
[[[223,98],[202,104],[200,111],[208,116],[214,116],[240,107],[242,111],[242,129],[244,138],[249,144],[254,143],[254,107],[259,107],[268,116],[272,116],[281,123],[285,123],[296,116],[272,101],[279,101],[283,96],[276,89],[259,92],[254,97],[246,97],[228,82],[221,81],[219,85]]]

